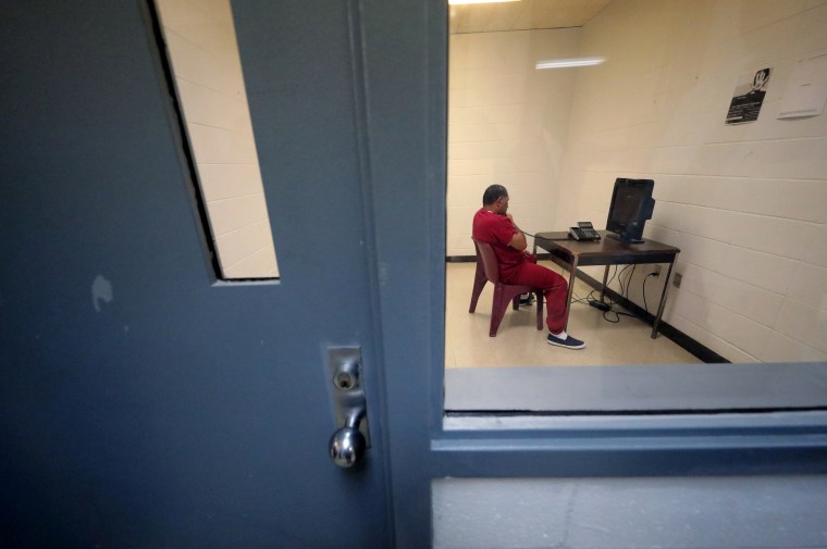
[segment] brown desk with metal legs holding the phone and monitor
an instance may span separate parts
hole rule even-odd
[[[656,338],[657,326],[661,324],[661,316],[664,314],[664,307],[666,305],[666,295],[669,291],[669,277],[672,266],[675,266],[675,259],[680,250],[654,240],[646,240],[643,244],[625,244],[612,233],[605,230],[598,233],[602,239],[597,242],[575,240],[568,238],[568,233],[564,232],[538,233],[534,237],[534,254],[536,254],[538,247],[542,248],[552,254],[552,261],[567,269],[570,273],[568,300],[566,301],[566,324],[568,325],[571,295],[575,291],[575,277],[579,266],[606,265],[603,273],[603,289],[601,290],[601,301],[603,301],[606,295],[606,282],[610,265],[668,263],[669,270],[666,273],[664,290],[661,292],[661,304],[657,305],[657,315],[652,326],[652,338]]]

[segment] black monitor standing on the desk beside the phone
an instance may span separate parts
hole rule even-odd
[[[643,226],[652,219],[655,208],[654,187],[652,179],[615,179],[606,230],[615,233],[624,242],[642,242]]]

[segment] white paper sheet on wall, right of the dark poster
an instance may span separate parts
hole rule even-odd
[[[779,118],[817,116],[827,101],[827,53],[799,61],[783,90]]]

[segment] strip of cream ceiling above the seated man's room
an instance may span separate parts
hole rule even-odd
[[[450,34],[581,27],[612,0],[521,0],[449,5]]]

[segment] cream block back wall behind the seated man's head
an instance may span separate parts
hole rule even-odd
[[[471,219],[505,185],[520,228],[548,228],[568,136],[572,71],[536,61],[577,53],[579,28],[450,36],[447,254],[473,255]]]

